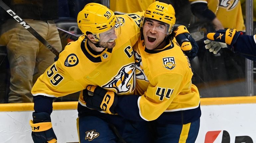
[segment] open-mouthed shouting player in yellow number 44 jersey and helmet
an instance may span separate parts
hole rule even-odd
[[[199,92],[191,81],[188,57],[181,51],[190,43],[176,41],[191,35],[184,35],[188,33],[185,26],[172,32],[175,21],[172,5],[156,1],[146,9],[141,20],[142,38],[133,47],[135,95],[117,96],[98,86],[88,86],[88,95],[84,96],[95,109],[134,121],[150,121],[156,135],[154,143],[194,143],[199,130]]]

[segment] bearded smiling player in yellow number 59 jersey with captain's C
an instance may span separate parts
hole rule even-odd
[[[140,38],[143,13],[119,15],[107,7],[87,4],[77,16],[83,35],[70,42],[59,59],[41,75],[34,87],[32,138],[34,143],[54,143],[50,114],[53,99],[101,86],[118,95],[134,94],[135,59],[132,47]],[[130,121],[118,115],[86,107],[80,93],[77,131],[80,143],[150,143],[147,122]],[[102,111],[103,112],[103,111]],[[39,128],[40,126],[40,128]],[[113,127],[115,126],[115,127]]]

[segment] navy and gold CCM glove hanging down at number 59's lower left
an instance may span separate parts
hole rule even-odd
[[[49,113],[32,113],[33,121],[30,120],[32,128],[32,139],[34,143],[57,143],[57,137],[53,131]]]

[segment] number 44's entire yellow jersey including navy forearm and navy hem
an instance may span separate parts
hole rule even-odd
[[[187,124],[199,119],[199,92],[191,82],[189,59],[176,40],[160,50],[146,49],[143,41],[133,47],[137,95],[119,96],[115,111],[136,121]]]

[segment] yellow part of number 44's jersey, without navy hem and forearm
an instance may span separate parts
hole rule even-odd
[[[175,41],[175,40],[173,40]],[[142,95],[138,99],[140,116],[145,120],[155,120],[163,112],[174,112],[199,107],[199,92],[192,84],[192,70],[189,59],[180,46],[171,41],[160,50],[148,50],[142,46],[143,40],[134,48],[136,62],[145,79],[136,76],[136,91]],[[138,60],[141,57],[141,60]]]

